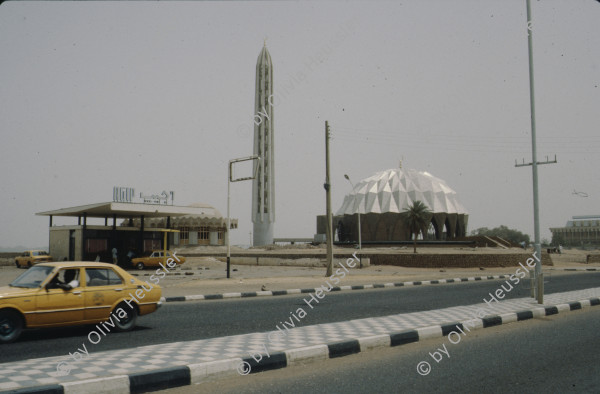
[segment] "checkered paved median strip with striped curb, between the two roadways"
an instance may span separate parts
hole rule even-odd
[[[290,317],[296,328],[280,327],[283,334],[274,325],[269,333],[90,351],[76,364],[65,356],[0,364],[0,390],[44,386],[36,392],[129,393],[189,385],[442,337],[459,327],[473,330],[582,309],[600,305],[599,297],[600,287],[547,294],[543,306],[520,298],[313,326]]]

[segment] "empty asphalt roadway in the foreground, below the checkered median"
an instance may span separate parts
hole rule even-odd
[[[160,393],[598,393],[599,326],[594,307]]]

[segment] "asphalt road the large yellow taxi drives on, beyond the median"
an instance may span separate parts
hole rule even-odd
[[[140,317],[134,331],[110,333],[90,351],[270,331],[301,306],[308,311],[302,319],[305,326],[476,304],[488,297],[487,294],[496,290],[500,283],[504,282],[489,280],[332,292],[310,311],[303,301],[309,299],[309,294],[166,303],[158,312]],[[546,293],[597,287],[599,283],[600,273],[555,275],[546,283]],[[529,290],[520,284],[507,294],[507,298],[526,297],[528,294]],[[17,342],[0,347],[0,363],[67,355],[87,341],[91,329],[83,326],[25,331]]]

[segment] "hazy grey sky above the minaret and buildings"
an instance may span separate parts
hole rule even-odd
[[[600,214],[600,3],[532,1],[542,237]],[[276,237],[312,237],[332,201],[403,166],[446,180],[469,231],[533,236],[525,0],[5,2],[0,6],[0,246],[43,246],[36,212],[113,186],[227,208],[252,154],[257,56],[274,65]],[[247,244],[250,182],[232,185]],[[588,197],[573,194],[587,193]],[[56,219],[74,224],[76,219]]]

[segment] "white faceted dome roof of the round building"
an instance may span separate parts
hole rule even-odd
[[[417,200],[434,213],[468,213],[444,180],[424,171],[394,168],[358,182],[336,215],[402,213]]]

